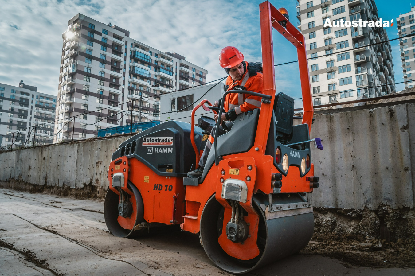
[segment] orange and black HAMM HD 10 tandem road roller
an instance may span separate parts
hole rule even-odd
[[[302,249],[314,219],[308,193],[318,187],[310,162],[313,109],[305,40],[285,9],[268,1],[259,6],[264,76],[261,109],[239,114],[229,132],[217,137],[203,176],[188,178],[197,166],[208,117],[192,124],[168,121],[123,142],[112,154],[105,197],[105,222],[112,234],[132,237],[152,227],[180,225],[200,235],[210,260],[220,269],[243,274]],[[272,28],[298,52],[304,114],[293,126],[294,100],[275,95]],[[218,109],[219,117],[222,106]],[[216,111],[214,111],[216,112]],[[220,120],[217,122],[219,127]]]

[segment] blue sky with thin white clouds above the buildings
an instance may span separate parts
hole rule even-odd
[[[319,1],[319,0],[315,0]],[[225,76],[218,64],[220,49],[236,46],[247,61],[261,61],[259,3],[225,0],[0,0],[0,83],[17,85],[23,79],[38,91],[57,94],[62,33],[78,12],[130,31],[130,37],[160,51],[175,51],[208,70],[207,81]],[[271,1],[286,7],[297,24],[295,0]],[[415,4],[415,1],[414,1]],[[410,11],[409,1],[376,1],[384,20]],[[397,37],[396,24],[387,30]],[[277,32],[276,64],[297,59],[296,50]],[[396,82],[403,81],[398,41],[392,42]],[[276,67],[277,92],[301,97],[298,64]],[[402,90],[403,84],[397,85]]]

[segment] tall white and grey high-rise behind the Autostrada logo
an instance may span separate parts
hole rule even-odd
[[[364,47],[388,40],[383,27],[324,27],[326,20],[378,20],[373,0],[300,0],[297,19],[310,58],[314,105],[395,92],[391,44]]]

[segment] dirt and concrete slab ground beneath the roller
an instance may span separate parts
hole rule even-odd
[[[197,235],[178,227],[136,239],[112,236],[99,200],[0,188],[0,202],[0,275],[230,275],[210,262]],[[324,231],[341,232],[347,219],[315,213],[322,234],[298,254],[246,275],[415,275],[413,241],[330,235]],[[344,224],[356,220],[356,231],[366,229],[365,220],[352,219]]]

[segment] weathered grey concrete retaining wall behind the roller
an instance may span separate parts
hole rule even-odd
[[[364,107],[362,107],[364,108]],[[312,150],[320,188],[316,207],[350,209],[414,206],[415,103],[316,114]],[[112,152],[127,137],[100,139],[0,153],[0,181],[106,188]]]

